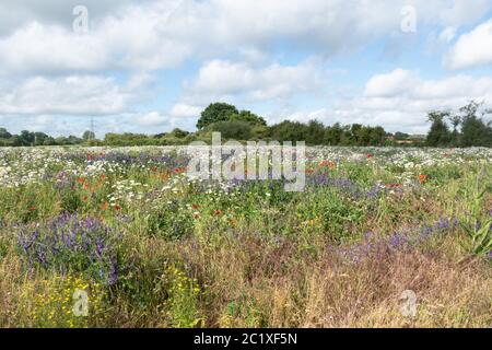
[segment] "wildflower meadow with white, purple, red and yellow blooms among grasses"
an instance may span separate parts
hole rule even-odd
[[[492,150],[308,148],[306,187],[179,148],[0,150],[0,327],[491,327]]]

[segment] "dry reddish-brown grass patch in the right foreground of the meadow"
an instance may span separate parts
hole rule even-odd
[[[492,326],[490,266],[461,261],[455,238],[440,247],[379,252],[354,265],[332,254],[300,259],[293,246],[266,248],[246,238],[187,258],[210,282],[209,326]],[[414,319],[400,311],[406,290],[418,298]],[[230,315],[232,303],[236,312]]]

